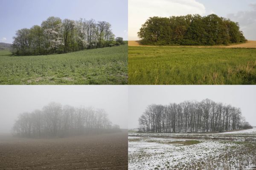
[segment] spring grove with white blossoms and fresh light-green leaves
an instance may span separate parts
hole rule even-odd
[[[121,39],[117,37],[115,40],[108,22],[96,22],[93,19],[61,20],[59,17],[49,17],[41,26],[20,29],[13,38],[12,53],[17,55],[44,55],[110,47],[120,45]]]

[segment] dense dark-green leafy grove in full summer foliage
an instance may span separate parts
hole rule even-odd
[[[228,45],[247,41],[239,23],[210,14],[150,17],[140,28],[142,44],[154,45]]]

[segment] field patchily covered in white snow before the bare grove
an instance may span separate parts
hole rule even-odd
[[[256,128],[232,133],[129,133],[129,170],[253,170]]]

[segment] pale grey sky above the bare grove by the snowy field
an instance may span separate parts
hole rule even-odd
[[[211,99],[241,108],[242,115],[256,126],[255,85],[130,85],[128,128],[137,128],[138,119],[151,104],[168,105],[186,100]]]

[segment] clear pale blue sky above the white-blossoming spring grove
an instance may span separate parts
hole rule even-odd
[[[12,43],[15,31],[41,25],[50,16],[107,21],[116,37],[128,39],[127,0],[0,0],[0,42]]]

